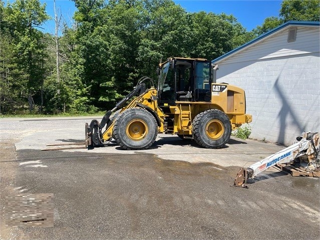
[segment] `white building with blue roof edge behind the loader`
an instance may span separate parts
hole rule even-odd
[[[291,145],[320,132],[319,22],[287,22],[215,59],[217,83],[245,90],[250,138]]]

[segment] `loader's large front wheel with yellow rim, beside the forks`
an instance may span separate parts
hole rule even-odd
[[[126,109],[117,117],[113,127],[114,139],[126,150],[148,149],[157,135],[156,119],[142,108]]]

